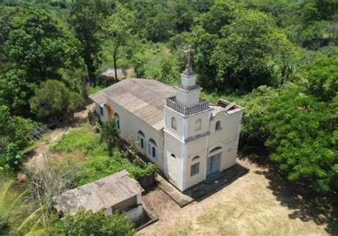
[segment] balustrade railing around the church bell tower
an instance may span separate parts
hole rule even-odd
[[[200,98],[199,103],[190,106],[184,106],[182,103],[178,103],[175,96],[166,98],[166,100],[169,108],[172,108],[185,116],[193,115],[209,108],[209,102],[203,98]]]

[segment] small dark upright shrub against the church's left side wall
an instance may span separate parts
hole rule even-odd
[[[113,154],[113,148],[116,146],[116,138],[119,130],[116,128],[116,120],[111,119],[102,125],[101,140],[106,143],[109,155]]]

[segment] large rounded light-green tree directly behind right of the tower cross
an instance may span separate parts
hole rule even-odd
[[[270,15],[217,1],[197,23],[191,41],[202,86],[251,91],[279,85],[274,67],[285,69],[293,49]]]

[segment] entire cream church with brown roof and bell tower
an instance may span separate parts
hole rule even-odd
[[[235,165],[243,111],[222,99],[212,105],[200,98],[188,58],[175,88],[128,78],[90,96],[101,121],[115,118],[121,138],[137,140],[138,151],[181,191]]]

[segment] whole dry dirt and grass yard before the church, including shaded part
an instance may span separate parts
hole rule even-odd
[[[329,235],[337,233],[337,205],[309,198],[272,178],[267,168],[240,160],[250,172],[217,193],[183,208],[162,190],[144,202],[160,220],[139,235]],[[272,183],[272,181],[274,181]],[[296,187],[297,188],[297,187]],[[336,196],[337,197],[337,196]],[[337,204],[337,201],[335,202]]]

